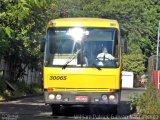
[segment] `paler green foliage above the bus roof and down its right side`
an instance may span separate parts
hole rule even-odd
[[[128,41],[128,55],[142,55],[142,62],[141,64],[138,63],[140,66],[136,68],[140,70],[133,71],[136,72],[136,75],[144,72],[147,67],[147,58],[155,54],[156,51],[160,1],[59,0],[57,5],[57,11],[65,12],[64,16],[61,17],[102,17],[118,20],[121,36]],[[125,59],[126,57],[124,57],[124,61],[128,62],[125,64],[130,64],[130,61]],[[136,64],[136,60],[134,60],[132,63]],[[124,66],[124,69],[130,71],[133,66],[131,65],[129,68]]]

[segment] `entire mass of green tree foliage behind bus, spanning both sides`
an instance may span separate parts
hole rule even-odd
[[[22,63],[30,68],[41,65],[39,39],[45,33],[48,20],[54,18],[116,19],[122,37],[128,41],[127,56],[141,54],[146,60],[156,50],[159,0],[1,0],[0,3],[0,57],[16,69],[15,79],[21,76],[18,73],[23,74]],[[126,67],[132,63],[124,56],[124,70],[133,68],[136,74],[142,74],[147,61],[141,58],[139,64],[132,58],[134,65]]]

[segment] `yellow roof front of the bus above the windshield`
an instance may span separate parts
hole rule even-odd
[[[50,20],[47,27],[109,27],[119,29],[118,22],[103,18],[60,18]]]

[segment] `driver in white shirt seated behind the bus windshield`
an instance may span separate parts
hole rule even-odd
[[[108,49],[106,47],[104,47],[102,49],[102,53],[99,53],[97,55],[97,59],[101,60],[101,61],[105,61],[105,60],[114,60],[114,57],[108,53]]]

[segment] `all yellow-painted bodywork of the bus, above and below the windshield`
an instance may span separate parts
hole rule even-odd
[[[117,28],[116,20],[98,18],[63,18],[51,20],[47,27],[105,27]],[[119,44],[119,47],[120,44]],[[121,58],[121,56],[120,56]],[[66,92],[109,92],[120,89],[121,60],[119,68],[69,68],[44,67],[44,89]],[[66,80],[50,80],[50,76],[66,76]]]

